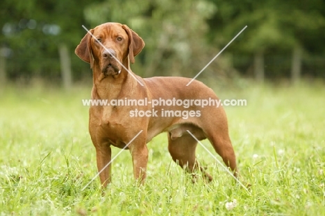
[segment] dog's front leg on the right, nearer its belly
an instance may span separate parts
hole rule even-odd
[[[131,146],[133,175],[138,183],[143,184],[147,177],[148,148],[147,144],[135,143]]]

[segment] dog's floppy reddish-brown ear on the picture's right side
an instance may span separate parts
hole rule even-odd
[[[122,28],[128,33],[128,57],[133,64],[135,62],[135,55],[138,55],[144,47],[144,41],[131,28],[128,28],[128,26],[122,25]]]

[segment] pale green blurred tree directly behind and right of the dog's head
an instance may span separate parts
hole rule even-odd
[[[206,19],[214,12],[215,6],[206,0],[111,0],[92,5],[85,17],[92,26],[115,21],[139,33],[146,43],[133,66],[139,75],[193,77],[217,54],[206,42]],[[215,73],[208,70],[204,75]]]

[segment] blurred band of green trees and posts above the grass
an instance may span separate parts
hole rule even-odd
[[[193,78],[248,26],[199,80],[297,83],[325,78],[325,2],[219,0],[1,0],[0,85],[90,83],[74,55],[88,29],[127,24],[146,46],[132,69],[142,77]]]

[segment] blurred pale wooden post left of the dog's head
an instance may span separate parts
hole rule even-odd
[[[61,65],[61,77],[63,81],[63,87],[67,90],[72,87],[72,72],[71,72],[71,58],[67,48],[67,44],[60,44],[60,65]]]

